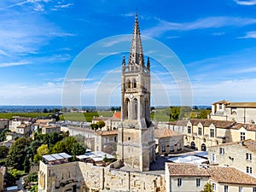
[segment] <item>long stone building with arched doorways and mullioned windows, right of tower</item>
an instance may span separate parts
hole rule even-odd
[[[185,146],[203,151],[221,143],[256,140],[256,125],[241,124],[236,121],[190,119],[171,122],[168,128],[185,135]]]

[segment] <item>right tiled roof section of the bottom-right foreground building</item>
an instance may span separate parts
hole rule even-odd
[[[230,166],[209,166],[207,172],[218,183],[256,184],[256,178]]]

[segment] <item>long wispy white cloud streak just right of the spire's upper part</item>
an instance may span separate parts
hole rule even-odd
[[[143,34],[154,37],[168,31],[189,31],[196,29],[220,28],[223,26],[247,26],[254,23],[256,23],[256,19],[254,18],[228,16],[207,17],[187,23],[174,23],[160,20],[157,26],[143,31]]]

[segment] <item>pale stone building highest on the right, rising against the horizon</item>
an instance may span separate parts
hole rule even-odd
[[[234,120],[238,123],[255,124],[256,102],[228,102],[220,101],[212,103],[210,119]]]

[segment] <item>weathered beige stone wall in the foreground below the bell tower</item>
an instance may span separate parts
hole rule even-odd
[[[54,166],[40,161],[39,170],[38,192],[166,191],[165,175],[149,172],[128,172],[79,161]]]

